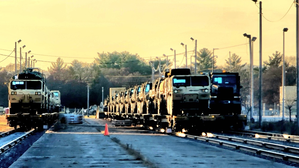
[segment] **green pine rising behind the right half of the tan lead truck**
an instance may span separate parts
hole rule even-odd
[[[207,48],[200,49],[197,53],[197,67],[198,70],[203,70],[203,72],[208,72],[208,69],[211,69],[213,67],[213,56],[212,52],[208,50]],[[216,64],[216,58],[214,58],[214,68]]]

